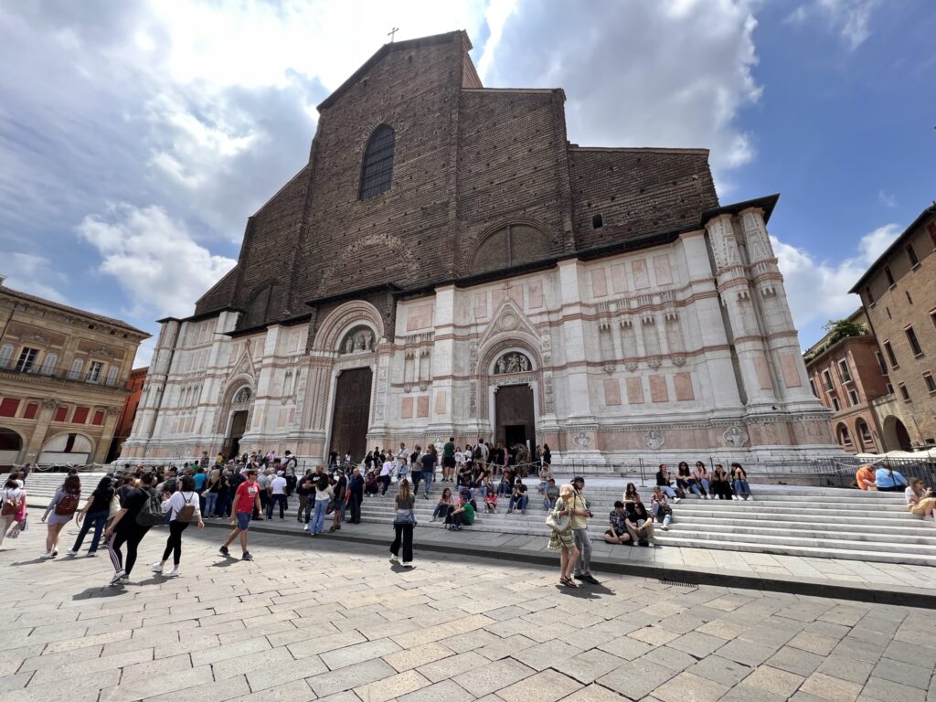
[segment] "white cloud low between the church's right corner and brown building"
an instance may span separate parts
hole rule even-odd
[[[848,291],[900,231],[896,224],[874,229],[858,241],[855,256],[839,263],[817,261],[805,249],[771,236],[797,329],[816,330],[829,319],[841,319],[855,312],[861,300]]]

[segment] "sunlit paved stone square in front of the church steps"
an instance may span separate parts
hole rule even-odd
[[[195,528],[183,578],[150,572],[154,530],[111,588],[103,551],[39,560],[44,531],[0,550],[0,702],[936,699],[929,610],[634,577],[573,591],[418,539],[412,571],[284,534],[252,534],[244,563]]]

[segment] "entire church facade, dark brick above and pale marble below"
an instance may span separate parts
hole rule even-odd
[[[705,150],[570,143],[562,90],[484,88],[470,49],[390,43],[319,105],[237,266],[161,320],[121,460],[448,436],[554,462],[837,453],[778,197],[722,205]]]

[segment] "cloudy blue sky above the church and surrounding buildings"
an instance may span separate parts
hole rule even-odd
[[[930,0],[0,0],[7,285],[191,314],[393,26],[467,30],[488,86],[563,87],[574,142],[707,147],[723,203],[780,192],[804,346],[936,196]]]

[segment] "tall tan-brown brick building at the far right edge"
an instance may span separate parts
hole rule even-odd
[[[892,392],[874,402],[885,447],[936,444],[936,204],[887,248],[851,292],[884,354]]]

